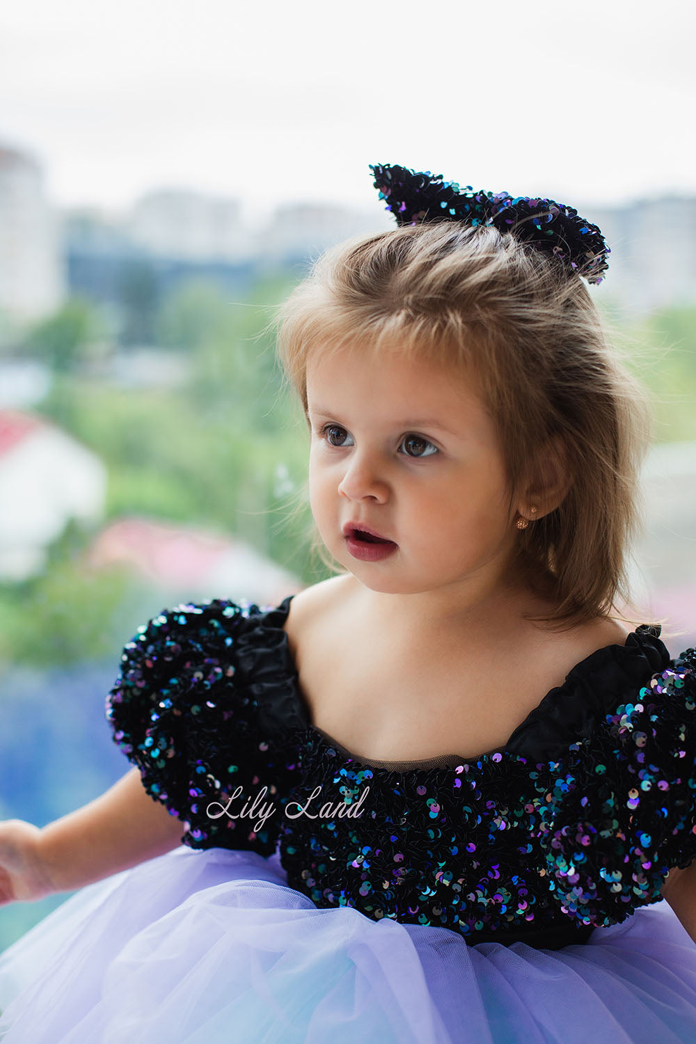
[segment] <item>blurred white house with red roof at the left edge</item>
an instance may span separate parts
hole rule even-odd
[[[96,454],[41,417],[0,409],[0,580],[41,573],[68,522],[98,522],[105,498]]]

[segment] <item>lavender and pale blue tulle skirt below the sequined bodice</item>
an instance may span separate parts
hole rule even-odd
[[[562,950],[471,947],[182,846],[0,954],[0,1010],[3,1044],[693,1044],[696,944],[662,901]]]

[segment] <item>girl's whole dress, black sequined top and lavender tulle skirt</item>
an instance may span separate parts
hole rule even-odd
[[[177,606],[126,644],[106,717],[182,845],[0,954],[0,1041],[696,1041],[661,898],[696,857],[696,650],[643,624],[502,749],[368,764],[311,723],[291,598]]]

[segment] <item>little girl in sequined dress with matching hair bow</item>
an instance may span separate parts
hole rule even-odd
[[[4,1044],[696,1040],[696,650],[623,622],[647,427],[608,248],[371,170],[398,227],[279,315],[336,575],[126,644],[133,767],[0,824],[2,903],[75,891],[0,956]]]

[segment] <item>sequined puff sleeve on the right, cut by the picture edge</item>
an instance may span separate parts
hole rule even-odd
[[[696,857],[696,649],[536,767],[527,810],[562,911],[602,927],[657,902],[668,872]]]

